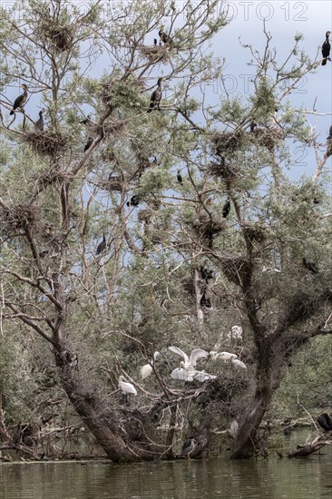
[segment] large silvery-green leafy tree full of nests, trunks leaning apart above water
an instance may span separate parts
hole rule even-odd
[[[207,52],[227,24],[218,6],[95,2],[82,13],[30,0],[20,22],[3,13],[4,85],[24,81],[30,99],[14,117],[1,100],[3,327],[51,347],[60,385],[113,461],[172,457],[181,418],[203,449],[220,408],[238,423],[232,456],[252,455],[289,359],[331,332],[330,144],[321,157],[305,110],[286,102],[317,63],[299,36],[278,63],[265,31],[264,54],[249,47],[247,102],[209,102],[201,89],[223,74]],[[317,149],[312,179],[288,178],[290,141]],[[239,323],[243,344],[230,347],[248,377],[229,364],[223,381],[179,389],[161,363],[142,404],[113,393],[142,354],[226,347]]]

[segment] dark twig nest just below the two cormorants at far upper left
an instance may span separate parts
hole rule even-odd
[[[60,132],[38,131],[25,133],[24,142],[41,156],[55,156],[65,148],[68,139]]]

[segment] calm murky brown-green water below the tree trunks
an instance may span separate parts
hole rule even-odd
[[[227,457],[135,465],[0,465],[1,499],[319,499],[332,497],[332,449],[306,459]]]

